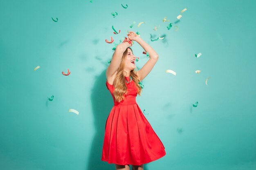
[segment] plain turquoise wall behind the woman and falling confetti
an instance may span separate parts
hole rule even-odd
[[[137,103],[166,156],[144,169],[255,170],[255,5],[255,0],[1,0],[0,169],[115,169],[101,161],[113,106],[105,72],[114,45],[105,39],[118,43],[130,30],[139,31],[159,54]],[[138,27],[139,22],[146,23]],[[112,25],[121,33],[113,34]],[[159,34],[165,38],[150,41]],[[132,49],[139,69],[148,59],[137,42]],[[70,75],[62,75],[67,68]]]

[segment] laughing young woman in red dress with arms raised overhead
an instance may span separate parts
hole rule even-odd
[[[139,82],[152,70],[158,54],[139,35],[130,31],[117,45],[106,70],[106,86],[114,100],[103,141],[102,161],[115,163],[116,170],[143,170],[144,164],[166,155],[165,147],[136,102],[141,93]],[[149,53],[149,60],[137,71],[130,46],[138,42]]]

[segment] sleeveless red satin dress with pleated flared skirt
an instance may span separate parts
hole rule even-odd
[[[126,77],[129,82],[130,78]],[[119,165],[141,165],[166,155],[165,147],[136,102],[137,86],[126,82],[128,95],[116,102],[115,87],[106,81],[114,106],[106,120],[101,161]]]

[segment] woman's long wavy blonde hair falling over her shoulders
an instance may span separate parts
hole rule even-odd
[[[128,48],[132,51],[132,49],[130,47],[128,47]],[[123,53],[121,63],[119,65],[119,68],[117,69],[117,74],[115,75],[115,79],[114,79],[114,82],[113,82],[113,85],[115,87],[113,95],[115,96],[115,100],[117,102],[121,102],[123,99],[125,99],[126,95],[128,94],[127,86],[125,84],[126,76],[123,74],[125,61],[126,61],[126,56],[127,56],[127,53],[128,53],[128,48]],[[137,71],[138,71],[138,69],[135,66],[135,69],[130,71],[130,76],[132,77],[132,80],[134,81],[135,85],[137,86],[137,89],[138,89],[137,94],[140,96],[142,88],[139,85],[140,79],[139,79],[139,76],[137,75]]]

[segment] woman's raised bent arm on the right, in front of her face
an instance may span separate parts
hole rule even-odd
[[[130,40],[135,40],[141,47],[145,50],[145,52],[148,52],[149,54],[149,60],[144,64],[144,66],[137,72],[138,76],[140,77],[140,81],[144,79],[148,73],[153,69],[155,66],[155,63],[158,60],[158,54],[155,52],[155,50],[148,45],[144,40],[142,40],[139,35],[137,35],[135,32],[130,31],[130,34],[128,35]]]

